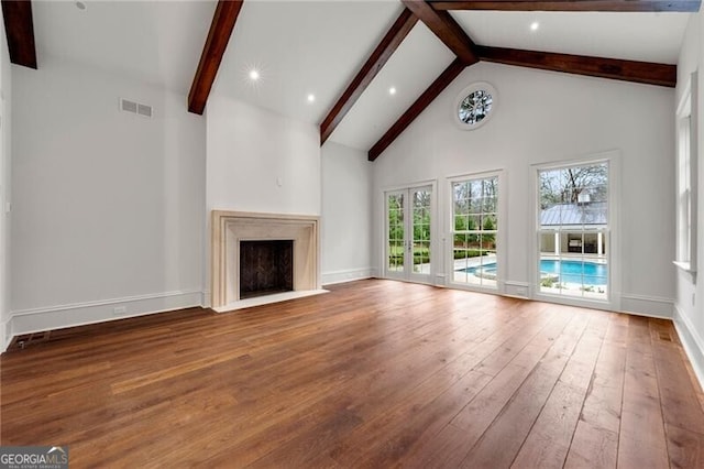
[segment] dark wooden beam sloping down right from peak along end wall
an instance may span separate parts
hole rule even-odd
[[[518,65],[543,70],[612,78],[624,81],[674,87],[678,79],[675,65],[617,58],[586,57],[551,52],[519,51],[515,48],[477,46],[482,61]]]

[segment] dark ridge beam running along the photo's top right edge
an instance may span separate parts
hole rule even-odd
[[[496,10],[496,11],[681,11],[696,12],[701,0],[498,0],[448,1],[429,0],[435,10]]]

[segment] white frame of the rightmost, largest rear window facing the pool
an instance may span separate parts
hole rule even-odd
[[[590,164],[608,163],[608,229],[607,250],[608,255],[608,285],[606,299],[593,299],[569,295],[550,295],[540,292],[538,282],[540,272],[538,261],[540,260],[540,178],[539,174],[546,170],[560,170],[570,166],[587,166]],[[530,176],[532,178],[532,233],[530,237],[530,297],[551,303],[559,303],[572,306],[586,306],[595,309],[620,310],[620,230],[619,230],[619,210],[620,205],[620,152],[617,150],[585,155],[574,160],[563,160],[551,163],[538,163],[531,165]]]

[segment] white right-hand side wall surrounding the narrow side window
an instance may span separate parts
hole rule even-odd
[[[678,63],[678,88],[676,96],[679,102],[688,79],[692,72],[698,69],[698,129],[697,142],[698,154],[698,220],[697,220],[697,260],[698,275],[696,280],[689,273],[676,270],[676,296],[674,323],[690,361],[697,373],[700,382],[704,385],[704,242],[701,241],[704,233],[704,12],[692,15],[684,35],[680,61]],[[674,122],[674,108],[671,112]],[[674,123],[672,123],[674,127]],[[675,211],[675,194],[672,194],[672,210]]]

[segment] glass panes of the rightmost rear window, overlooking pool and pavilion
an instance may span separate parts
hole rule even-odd
[[[541,294],[608,299],[608,163],[538,171]]]

